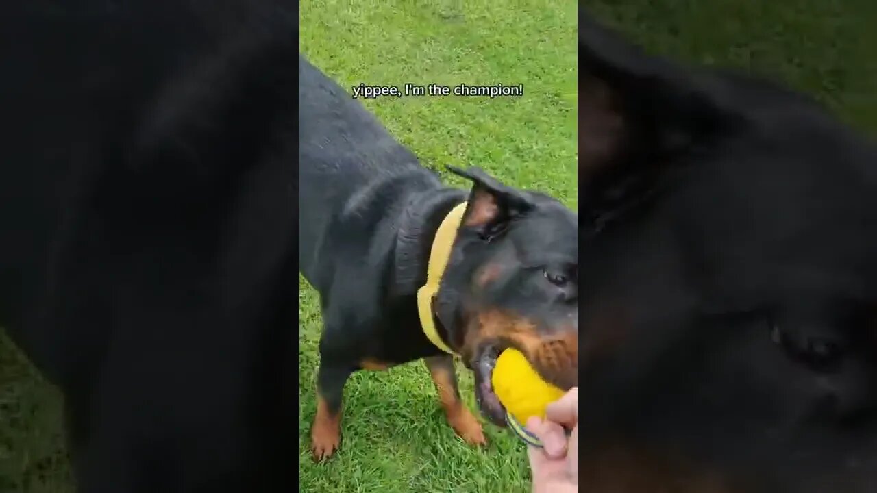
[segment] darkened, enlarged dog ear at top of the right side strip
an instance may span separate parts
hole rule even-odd
[[[579,177],[637,182],[724,124],[694,72],[652,57],[579,10]],[[597,183],[599,182],[599,183]],[[617,189],[617,187],[614,187]],[[617,193],[614,190],[613,193]]]

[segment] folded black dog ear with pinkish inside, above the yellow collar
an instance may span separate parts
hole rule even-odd
[[[454,175],[472,180],[472,191],[462,225],[478,232],[482,238],[495,236],[511,218],[534,207],[526,193],[504,185],[481,168],[463,170],[448,166],[447,169]]]

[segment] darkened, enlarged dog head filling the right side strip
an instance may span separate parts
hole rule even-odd
[[[579,17],[579,487],[877,491],[877,148]]]

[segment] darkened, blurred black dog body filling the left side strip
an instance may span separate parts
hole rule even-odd
[[[0,326],[77,490],[295,490],[297,4],[2,11]]]

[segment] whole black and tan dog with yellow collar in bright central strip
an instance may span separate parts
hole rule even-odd
[[[319,292],[324,325],[315,458],[339,447],[342,389],[358,370],[423,359],[448,422],[471,444],[485,439],[460,401],[453,354],[474,370],[476,400],[497,425],[505,425],[504,411],[490,373],[503,349],[522,350],[546,380],[573,387],[574,211],[480,168],[449,168],[471,180],[470,190],[443,185],[303,56],[299,102],[299,267]],[[447,262],[438,289],[418,305],[436,261]]]

